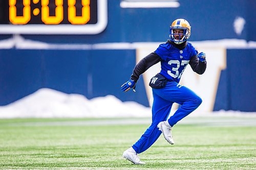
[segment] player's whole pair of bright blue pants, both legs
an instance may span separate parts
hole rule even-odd
[[[153,97],[152,124],[133,145],[138,154],[150,148],[161,135],[157,125],[168,118],[173,103],[178,103],[181,107],[168,119],[172,127],[202,103],[202,99],[196,93],[176,82],[167,82],[164,88],[153,89]]]

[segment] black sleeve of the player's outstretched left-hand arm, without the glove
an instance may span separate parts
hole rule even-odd
[[[161,61],[161,57],[159,57],[156,53],[147,55],[135,66],[131,79],[137,82],[143,72],[159,61]]]

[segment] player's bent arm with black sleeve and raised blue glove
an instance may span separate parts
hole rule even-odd
[[[196,56],[192,57],[189,61],[189,64],[193,71],[195,71],[199,75],[202,75],[207,65],[207,62],[205,60],[205,54],[199,53]]]

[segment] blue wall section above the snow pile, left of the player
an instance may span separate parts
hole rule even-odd
[[[112,94],[148,106],[143,81],[134,94],[119,88],[135,60],[135,50],[0,50],[0,105],[46,87],[88,99]]]

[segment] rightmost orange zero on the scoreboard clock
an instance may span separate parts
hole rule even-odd
[[[90,0],[82,0],[82,16],[76,16],[76,0],[68,0],[68,13],[69,21],[72,24],[83,25],[86,24],[90,19]]]

